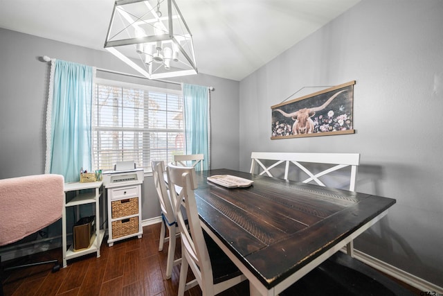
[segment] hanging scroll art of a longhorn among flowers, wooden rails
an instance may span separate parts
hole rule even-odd
[[[353,134],[355,80],[273,105],[271,139]]]

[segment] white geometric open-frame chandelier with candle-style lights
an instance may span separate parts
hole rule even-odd
[[[149,79],[197,74],[192,35],[174,0],[118,0],[105,49]]]

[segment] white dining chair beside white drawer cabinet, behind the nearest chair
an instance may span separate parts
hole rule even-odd
[[[166,260],[166,274],[165,279],[170,279],[172,275],[172,268],[181,262],[181,258],[174,260],[176,238],[179,235],[177,227],[177,220],[175,214],[174,201],[170,198],[170,191],[165,182],[165,164],[163,161],[152,161],[152,175],[154,177],[154,185],[161,207],[161,230],[159,251],[163,250],[163,245],[168,242],[168,259]],[[166,227],[168,227],[168,237],[166,236]]]

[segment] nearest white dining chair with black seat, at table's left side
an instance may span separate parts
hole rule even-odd
[[[168,164],[168,177],[172,195],[177,195],[177,207],[183,204],[188,215],[189,231],[186,228],[183,214],[177,211],[177,223],[181,234],[181,268],[178,295],[185,290],[200,286],[204,296],[213,296],[231,288],[246,279],[218,245],[201,229],[197,212],[195,189],[197,180],[195,168]],[[175,191],[180,189],[179,194]],[[188,268],[195,279],[186,282]]]

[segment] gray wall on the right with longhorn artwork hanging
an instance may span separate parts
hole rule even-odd
[[[240,82],[239,126],[242,171],[248,171],[255,150],[361,153],[357,191],[395,198],[397,204],[356,240],[356,249],[439,286],[442,15],[441,0],[361,1]],[[355,134],[270,139],[271,105],[301,87],[351,80]]]

